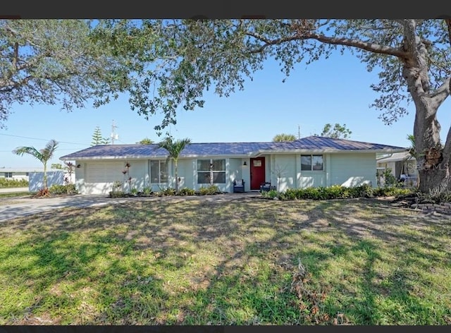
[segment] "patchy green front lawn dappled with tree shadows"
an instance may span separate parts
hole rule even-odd
[[[451,324],[450,216],[375,200],[132,200],[0,232],[0,325]]]

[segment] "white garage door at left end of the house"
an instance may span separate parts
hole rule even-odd
[[[109,194],[115,181],[123,181],[124,162],[98,162],[86,164],[86,194]]]

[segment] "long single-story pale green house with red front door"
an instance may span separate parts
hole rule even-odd
[[[214,184],[233,192],[235,179],[245,180],[246,191],[259,190],[265,181],[280,191],[334,184],[376,187],[376,153],[405,150],[319,136],[278,143],[192,143],[178,158],[179,188],[198,190]],[[97,145],[60,159],[75,160],[79,193],[108,194],[115,182],[122,190],[174,188],[174,166],[167,157],[168,152],[156,144],[135,144]]]

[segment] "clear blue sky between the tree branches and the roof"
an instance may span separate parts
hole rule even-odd
[[[254,74],[245,90],[230,97],[204,95],[202,109],[178,113],[177,124],[169,129],[174,138],[190,138],[195,143],[205,142],[261,142],[271,141],[279,133],[301,137],[321,133],[326,123],[345,123],[352,131],[351,140],[407,147],[408,133],[413,132],[414,106],[409,115],[391,126],[378,119],[379,111],[369,104],[377,97],[371,83],[378,80],[377,73],[369,73],[359,59],[338,52],[330,59],[321,59],[310,65],[298,64],[285,83],[284,75],[274,61],[264,70]],[[451,102],[448,98],[438,111],[445,139],[451,125]],[[48,140],[60,144],[54,159],[90,146],[96,126],[102,136],[111,134],[114,121],[118,140],[115,144],[137,143],[143,138],[161,140],[154,131],[158,116],[149,121],[131,111],[124,95],[108,105],[95,109],[86,104],[85,109],[68,113],[58,105],[15,105],[6,121],[7,128],[0,129],[0,168],[42,167],[31,157],[14,155],[18,146],[40,149]]]

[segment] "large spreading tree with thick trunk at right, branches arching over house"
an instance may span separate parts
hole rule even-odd
[[[157,130],[175,123],[179,107],[202,107],[205,90],[228,96],[243,89],[268,58],[289,75],[298,63],[349,49],[368,71],[378,72],[378,82],[371,85],[378,97],[371,107],[381,111],[383,122],[397,121],[413,102],[420,189],[451,189],[451,131],[442,143],[437,119],[450,95],[447,20],[162,20],[152,25],[159,47],[152,38],[144,43],[146,52],[139,54],[153,63],[138,71],[130,103],[146,117],[162,112]]]

